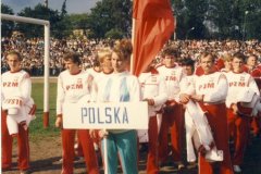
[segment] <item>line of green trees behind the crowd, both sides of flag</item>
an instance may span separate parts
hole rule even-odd
[[[171,0],[173,15],[176,18],[178,39],[261,39],[260,0]],[[84,4],[83,4],[84,5]],[[14,14],[13,10],[1,4],[1,12]],[[51,36],[67,38],[74,29],[83,29],[88,38],[130,37],[132,1],[101,0],[89,13],[67,14],[66,0],[61,11],[37,4],[17,13],[48,20],[51,23]],[[13,30],[22,32],[26,37],[42,37],[42,27],[32,24],[2,21],[2,36]]]

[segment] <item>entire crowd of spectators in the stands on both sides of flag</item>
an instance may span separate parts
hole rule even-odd
[[[62,55],[67,51],[76,51],[79,53],[83,67],[89,69],[94,66],[97,50],[101,47],[111,46],[113,40],[86,40],[86,39],[54,39],[50,40],[50,75],[58,76],[64,70]],[[171,40],[170,45],[174,45],[181,51],[181,60],[190,58],[197,60],[199,54],[208,50],[215,52],[217,58],[225,52],[241,51],[245,55],[256,54],[261,60],[261,42],[259,40]],[[23,37],[2,37],[1,39],[1,73],[8,70],[5,54],[10,50],[17,50],[22,57],[22,69],[27,71],[32,76],[44,75],[44,38],[23,38]],[[156,58],[161,62],[161,55]]]

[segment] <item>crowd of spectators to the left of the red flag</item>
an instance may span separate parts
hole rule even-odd
[[[50,75],[58,76],[64,70],[62,55],[67,51],[80,54],[84,69],[91,67],[97,49],[108,46],[110,40],[79,40],[79,39],[50,39]],[[1,73],[8,70],[5,54],[10,50],[18,51],[23,57],[22,69],[32,76],[44,75],[44,50],[42,38],[26,39],[22,37],[7,38],[1,40]]]

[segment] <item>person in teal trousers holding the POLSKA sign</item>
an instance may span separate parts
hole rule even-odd
[[[126,70],[129,66],[132,42],[123,39],[113,48],[112,66],[114,73],[109,77],[103,88],[98,89],[99,102],[135,102],[140,100],[139,83],[137,77]],[[97,135],[95,132],[94,137]],[[105,172],[117,173],[117,156],[120,156],[123,173],[137,174],[137,133],[135,129],[108,129],[99,130],[98,135],[103,138],[103,154],[105,159]]]

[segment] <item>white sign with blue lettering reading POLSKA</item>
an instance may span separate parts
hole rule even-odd
[[[147,102],[64,103],[64,128],[147,129]]]

